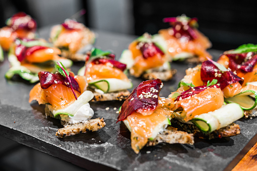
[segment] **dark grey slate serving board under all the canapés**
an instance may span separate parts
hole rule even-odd
[[[133,35],[95,32],[97,40],[94,46],[111,50],[117,57],[136,38]],[[48,33],[49,29],[42,29],[40,36],[47,38]],[[222,53],[213,49],[209,52],[215,59]],[[76,73],[82,66],[83,63],[74,63],[72,71]],[[123,123],[116,124],[120,101],[90,102],[95,111],[94,118],[105,118],[105,128],[58,139],[55,132],[62,128],[60,121],[46,118],[44,105],[28,103],[33,85],[4,79],[8,67],[7,59],[0,63],[0,135],[88,170],[229,170],[256,142],[256,139],[250,140],[257,132],[257,119],[241,119],[236,122],[241,128],[238,136],[215,140],[195,138],[194,145],[159,144],[145,147],[136,154],[131,148],[130,132]],[[193,66],[173,63],[172,67],[178,73],[173,80],[163,82],[160,96],[167,97],[170,91],[175,91],[185,70]],[[134,88],[143,81],[131,79]]]

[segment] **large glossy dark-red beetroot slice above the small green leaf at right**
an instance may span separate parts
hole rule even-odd
[[[243,80],[233,72],[229,70],[222,72],[211,61],[203,62],[201,67],[201,80],[203,83],[207,84],[208,81],[212,81],[213,79],[218,80],[218,84],[220,84],[221,89],[224,89],[228,85],[236,82],[243,82]]]

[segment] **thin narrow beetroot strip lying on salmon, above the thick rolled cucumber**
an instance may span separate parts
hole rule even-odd
[[[209,87],[210,88],[212,88],[212,87],[220,88],[220,86],[218,86],[218,85],[212,85],[212,86],[209,86]],[[204,91],[206,88],[207,88],[206,85],[198,86],[198,87],[190,87],[188,90],[181,93],[181,95],[179,95],[175,101],[179,101],[179,100],[182,100],[184,98],[191,97],[195,94],[198,94],[198,93]]]

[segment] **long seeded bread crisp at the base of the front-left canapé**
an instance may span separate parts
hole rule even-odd
[[[55,118],[49,108],[50,105],[51,104],[46,104],[46,107],[45,107],[46,116]],[[58,136],[59,138],[63,138],[66,136],[71,136],[79,133],[86,133],[88,131],[97,131],[105,127],[106,125],[103,118],[91,119],[91,120],[79,122],[76,124],[69,124],[69,123],[65,123],[65,121],[61,121],[61,124],[64,126],[64,128],[60,128],[56,132],[56,136]]]

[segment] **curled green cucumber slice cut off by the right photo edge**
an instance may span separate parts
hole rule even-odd
[[[250,97],[253,96],[254,98]],[[253,90],[245,90],[234,97],[225,98],[224,99],[227,103],[237,103],[239,104],[244,110],[251,110],[256,107],[257,105],[257,92]]]

